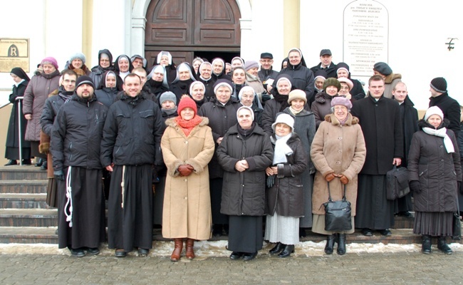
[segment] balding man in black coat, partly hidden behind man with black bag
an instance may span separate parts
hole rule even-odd
[[[412,143],[412,137],[418,128],[418,111],[413,107],[413,102],[408,97],[407,86],[405,83],[399,82],[392,89],[392,98],[399,103],[400,118],[402,120],[403,129],[403,146],[404,159],[402,160],[403,167],[407,167],[408,151]],[[409,193],[404,197],[398,198],[394,202],[394,212],[402,217],[412,217],[410,210],[412,209],[412,194]]]

